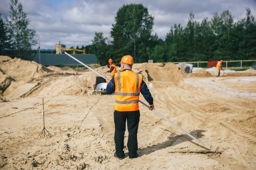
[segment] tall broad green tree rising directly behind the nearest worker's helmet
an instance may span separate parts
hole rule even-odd
[[[132,55],[135,63],[148,61],[147,48],[153,48],[151,35],[154,18],[142,4],[123,5],[115,17],[111,37],[115,55]],[[153,46],[154,45],[154,46]]]

